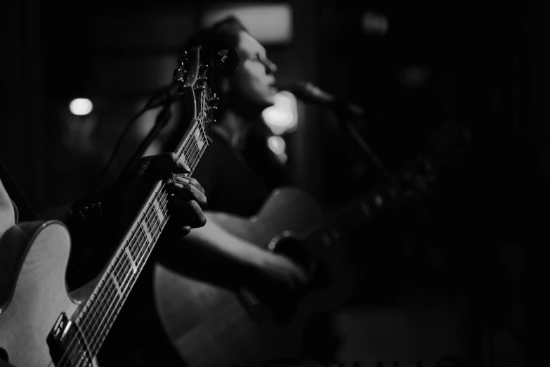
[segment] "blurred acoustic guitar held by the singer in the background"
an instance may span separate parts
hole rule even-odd
[[[454,150],[444,164],[451,165],[466,151]],[[416,167],[428,162],[420,160]],[[431,165],[435,172],[436,165]],[[229,233],[291,257],[311,281],[299,295],[266,305],[251,290],[232,292],[155,264],[157,311],[178,354],[189,366],[219,367],[263,366],[270,359],[299,356],[310,316],[339,307],[352,294],[346,237],[351,230],[365,231],[377,212],[417,192],[409,190],[414,188],[410,173],[401,175],[404,195],[384,184],[328,217],[310,195],[291,187],[273,191],[251,218],[207,212],[208,221]]]

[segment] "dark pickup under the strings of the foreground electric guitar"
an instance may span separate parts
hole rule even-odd
[[[55,321],[46,338],[46,343],[54,366],[93,366],[91,352],[84,335],[77,324],[67,318],[65,312],[61,313]]]

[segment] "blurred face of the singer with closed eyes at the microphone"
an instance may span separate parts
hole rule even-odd
[[[233,101],[250,108],[268,108],[275,103],[273,86],[277,67],[266,56],[266,49],[247,32],[240,32],[240,63],[230,78]]]

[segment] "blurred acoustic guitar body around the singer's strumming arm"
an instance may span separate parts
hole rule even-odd
[[[274,191],[251,219],[208,213],[209,221],[266,249],[273,239],[275,242],[278,236],[289,234],[285,231],[300,238],[323,219],[315,200],[296,188]],[[240,293],[186,278],[157,264],[157,310],[184,361],[189,366],[259,366],[270,359],[298,356],[308,318],[345,302],[353,288],[342,246],[317,243],[309,251],[327,264],[329,282],[301,298],[294,317],[284,325],[277,324],[263,304],[254,305]]]

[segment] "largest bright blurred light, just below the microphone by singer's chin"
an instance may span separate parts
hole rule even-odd
[[[280,91],[275,94],[275,104],[263,110],[262,117],[275,135],[294,131],[298,124],[296,97],[287,91]]]

